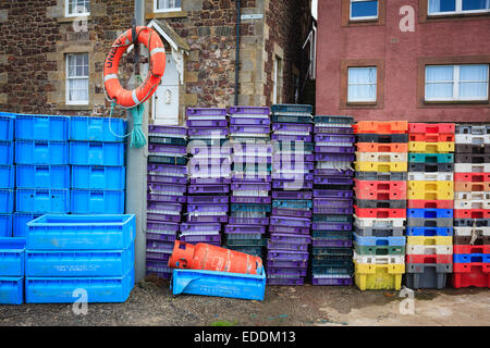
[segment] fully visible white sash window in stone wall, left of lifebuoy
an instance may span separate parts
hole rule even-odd
[[[66,104],[88,104],[88,53],[66,54]]]

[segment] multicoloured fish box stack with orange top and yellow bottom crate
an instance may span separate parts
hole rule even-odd
[[[355,283],[400,289],[405,273],[407,122],[359,122],[354,215]]]

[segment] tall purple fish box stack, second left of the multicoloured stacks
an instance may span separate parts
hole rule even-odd
[[[313,208],[313,108],[275,104],[272,111],[272,214],[268,284],[303,285],[308,270]]]

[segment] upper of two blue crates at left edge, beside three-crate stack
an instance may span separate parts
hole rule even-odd
[[[0,276],[24,276],[25,238],[0,238]]]

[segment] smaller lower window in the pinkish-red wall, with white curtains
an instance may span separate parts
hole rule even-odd
[[[376,102],[378,69],[376,66],[348,67],[347,102]]]

